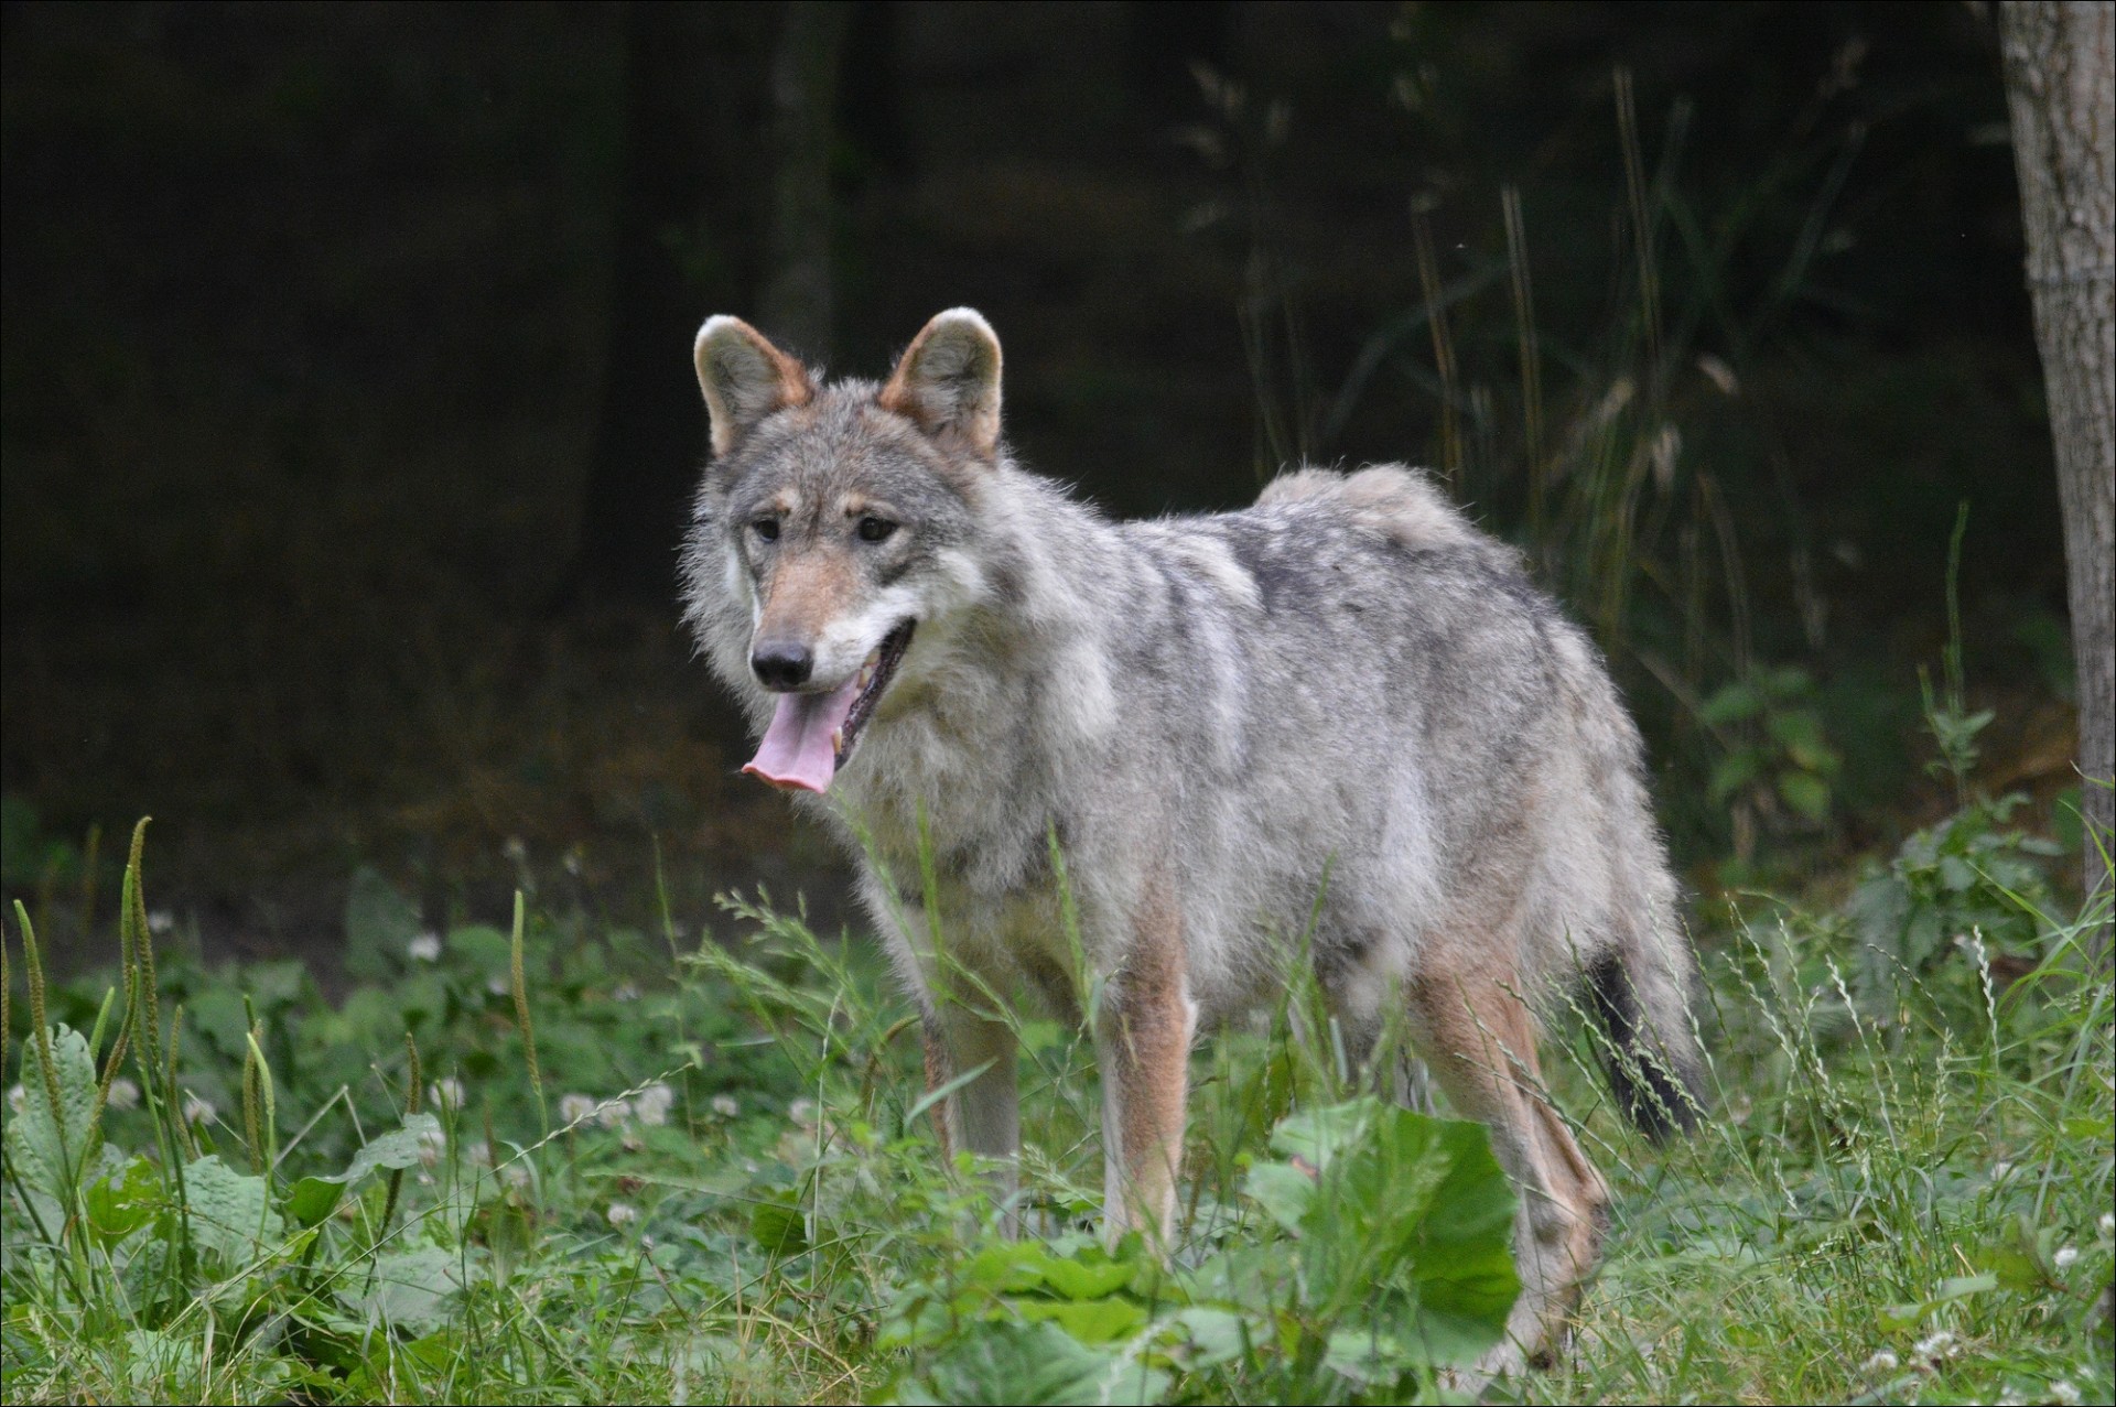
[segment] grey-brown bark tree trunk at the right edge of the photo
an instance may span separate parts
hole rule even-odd
[[[2065,514],[2091,891],[2116,772],[2116,4],[2006,4],[2000,38]],[[2108,961],[2108,929],[2097,946]]]

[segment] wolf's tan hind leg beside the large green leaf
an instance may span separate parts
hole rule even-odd
[[[1473,963],[1452,967],[1411,988],[1418,1043],[1454,1109],[1492,1128],[1492,1153],[1521,1198],[1513,1229],[1521,1297],[1507,1320],[1513,1344],[1485,1367],[1502,1369],[1515,1354],[1543,1363],[1564,1344],[1595,1265],[1608,1187],[1543,1094],[1536,1020],[1521,984]]]

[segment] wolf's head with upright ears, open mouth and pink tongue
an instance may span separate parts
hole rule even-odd
[[[961,550],[999,446],[999,339],[971,309],[912,339],[880,387],[817,387],[738,317],[698,328],[713,461],[683,548],[688,618],[768,713],[745,772],[823,791],[923,622],[973,597]]]

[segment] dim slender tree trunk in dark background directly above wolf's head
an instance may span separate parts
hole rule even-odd
[[[770,269],[758,313],[764,332],[808,362],[832,341],[832,150],[849,0],[789,4],[772,57]]]

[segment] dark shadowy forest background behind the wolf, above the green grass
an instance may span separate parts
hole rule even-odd
[[[880,374],[982,309],[1117,514],[1439,468],[1699,893],[1949,806],[1968,504],[1983,781],[2072,781],[1981,6],[6,4],[0,72],[0,878],[61,950],[140,815],[209,954],[328,954],[362,867],[832,920],[671,595],[715,311]]]

